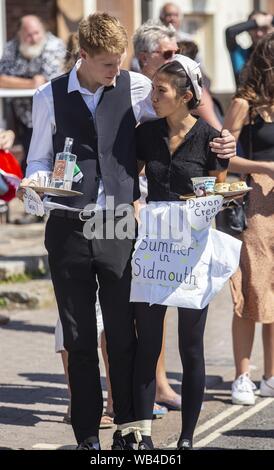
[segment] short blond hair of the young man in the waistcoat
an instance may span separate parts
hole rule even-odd
[[[80,48],[91,57],[101,52],[123,54],[128,46],[125,28],[108,13],[94,13],[83,19],[78,37]]]

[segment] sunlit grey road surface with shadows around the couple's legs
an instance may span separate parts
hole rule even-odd
[[[18,201],[11,207],[11,220],[22,212]],[[45,257],[44,224],[19,227],[0,225],[1,262],[16,257]],[[10,322],[0,327],[0,449],[73,449],[70,425],[63,423],[68,405],[60,355],[54,350],[57,308],[46,274],[43,279],[20,283],[0,283],[1,289],[37,293],[39,303],[10,303],[0,309]],[[42,287],[43,286],[43,287]],[[36,295],[36,294],[35,294]],[[47,299],[46,303],[44,298]],[[205,449],[274,450],[274,399],[258,396],[254,407],[231,404],[234,379],[231,344],[232,303],[226,285],[210,305],[205,333],[206,391],[203,410],[195,434],[195,446]],[[252,352],[252,379],[262,375],[262,344],[258,325]],[[173,388],[179,392],[182,369],[177,342],[177,314],[167,315],[166,370]],[[100,366],[105,396],[105,372]],[[153,438],[158,448],[172,449],[180,429],[180,412],[169,412],[153,422]],[[100,432],[102,448],[109,449],[113,429]]]

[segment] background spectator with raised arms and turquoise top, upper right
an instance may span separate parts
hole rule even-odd
[[[226,45],[230,54],[236,85],[239,83],[240,73],[248,61],[259,39],[273,31],[274,17],[264,11],[254,10],[248,20],[229,26],[226,29]],[[237,42],[237,36],[247,31],[252,44],[244,49]]]

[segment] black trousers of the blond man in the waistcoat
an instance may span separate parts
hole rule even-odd
[[[115,422],[134,421],[132,375],[136,350],[129,303],[133,240],[87,240],[83,223],[51,215],[45,246],[69,353],[71,419],[77,442],[98,436],[103,410],[95,302],[101,304]]]

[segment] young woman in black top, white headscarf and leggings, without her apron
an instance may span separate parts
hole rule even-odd
[[[201,98],[201,72],[193,60],[176,55],[158,69],[153,78],[152,103],[159,119],[139,126],[137,158],[145,165],[148,202],[178,201],[193,192],[191,177],[211,175],[224,181],[228,160],[216,157],[211,141],[219,136],[191,110]],[[151,418],[155,396],[155,370],[161,351],[163,305],[135,304],[138,348],[134,373],[134,406],[141,428],[139,449],[153,448]],[[208,306],[202,310],[178,308],[179,350],[183,364],[182,431],[178,449],[192,447],[204,386],[203,334]]]

